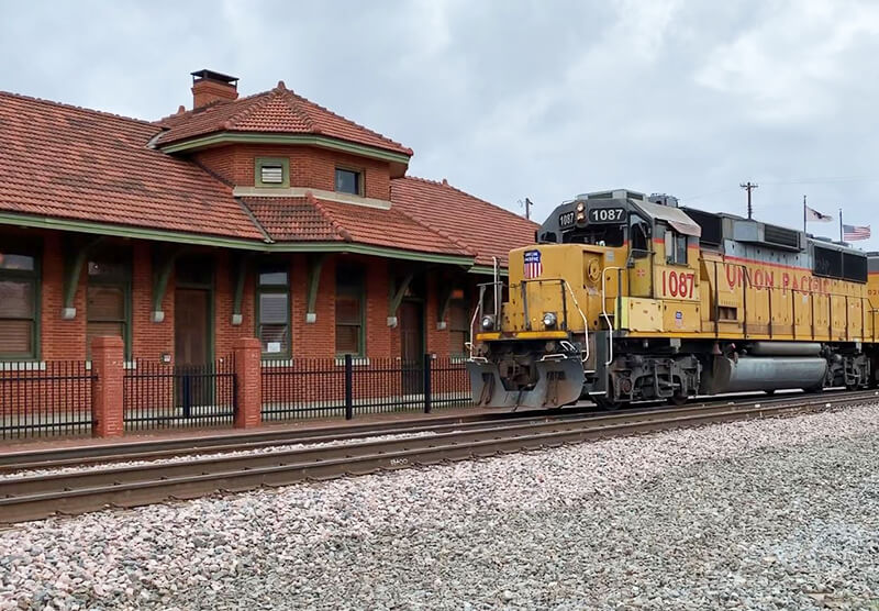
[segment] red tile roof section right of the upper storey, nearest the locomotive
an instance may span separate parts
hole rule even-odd
[[[508,254],[534,243],[537,223],[449,186],[423,178],[391,180],[393,208],[420,223],[441,229],[476,254],[477,265],[507,266]]]

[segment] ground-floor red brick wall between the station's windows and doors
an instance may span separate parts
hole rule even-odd
[[[0,240],[5,234],[0,231]],[[59,232],[32,232],[34,240],[43,242],[41,296],[41,358],[44,360],[86,358],[86,293],[88,274],[86,266],[74,297],[76,316],[62,319],[64,301],[64,262],[70,253],[64,251]],[[118,246],[132,253],[131,325],[132,356],[138,360],[158,362],[163,354],[174,355],[175,323],[175,275],[168,280],[162,301],[165,319],[153,322],[154,251],[159,245],[144,241],[108,238],[102,247]],[[335,280],[336,266],[357,265],[365,275],[366,285],[366,355],[370,358],[396,358],[400,355],[399,327],[387,324],[389,284],[392,270],[399,262],[358,255],[329,255],[322,267],[315,310],[316,322],[307,323],[308,265],[304,254],[254,257],[244,286],[242,302],[243,321],[232,324],[235,277],[235,255],[219,248],[191,248],[187,254],[209,254],[214,262],[214,354],[218,358],[232,353],[235,340],[256,334],[256,274],[260,260],[278,263],[290,273],[290,336],[294,357],[332,358],[335,356]],[[447,355],[448,332],[437,330],[437,311],[441,288],[448,282],[449,270],[436,267],[427,273],[426,300],[424,302],[425,349],[439,356]],[[469,281],[466,275],[465,281]]]

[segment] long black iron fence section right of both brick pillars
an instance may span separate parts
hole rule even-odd
[[[463,359],[294,359],[263,364],[264,421],[470,404]]]

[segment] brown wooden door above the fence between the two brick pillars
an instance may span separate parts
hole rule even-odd
[[[210,291],[177,289],[174,296],[174,360],[176,365],[208,365]]]

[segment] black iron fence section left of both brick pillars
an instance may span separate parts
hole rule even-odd
[[[82,360],[0,363],[0,438],[91,434],[93,379]]]

